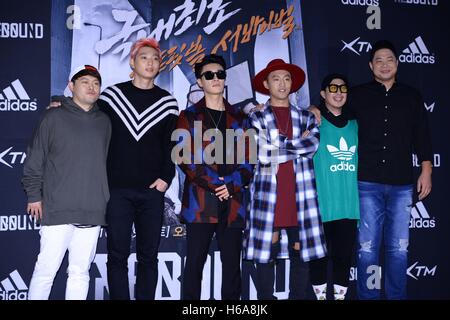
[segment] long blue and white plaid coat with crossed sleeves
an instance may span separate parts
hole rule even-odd
[[[250,115],[256,129],[258,162],[250,185],[249,217],[244,233],[244,259],[266,263],[270,260],[273,221],[277,195],[276,172],[279,163],[294,162],[296,203],[300,239],[300,258],[310,261],[326,255],[326,244],[317,202],[312,157],[319,146],[319,129],[314,116],[290,106],[293,139],[279,135],[275,117],[268,102],[264,110]],[[302,138],[302,134],[310,133]],[[287,258],[287,239],[282,237],[279,258]]]

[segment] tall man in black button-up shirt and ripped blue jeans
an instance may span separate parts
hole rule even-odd
[[[353,88],[348,115],[359,128],[358,295],[380,298],[379,252],[385,252],[387,299],[406,299],[407,249],[413,195],[412,153],[422,170],[418,199],[431,191],[431,141],[424,104],[417,90],[396,81],[397,53],[389,41],[374,44],[369,66],[374,80]]]

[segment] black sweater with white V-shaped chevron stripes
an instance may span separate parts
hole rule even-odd
[[[156,85],[144,90],[127,81],[106,88],[98,104],[112,124],[109,186],[147,188],[157,178],[170,184],[175,175],[170,157],[178,117],[175,98]]]

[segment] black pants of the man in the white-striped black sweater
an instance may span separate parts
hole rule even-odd
[[[136,230],[136,300],[154,300],[164,193],[153,189],[113,189],[106,211],[108,286],[112,300],[129,300],[128,257]]]

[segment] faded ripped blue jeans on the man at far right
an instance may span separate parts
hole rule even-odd
[[[361,211],[358,297],[362,300],[380,299],[381,272],[378,266],[383,239],[386,299],[406,299],[413,186],[359,181],[358,189]]]

